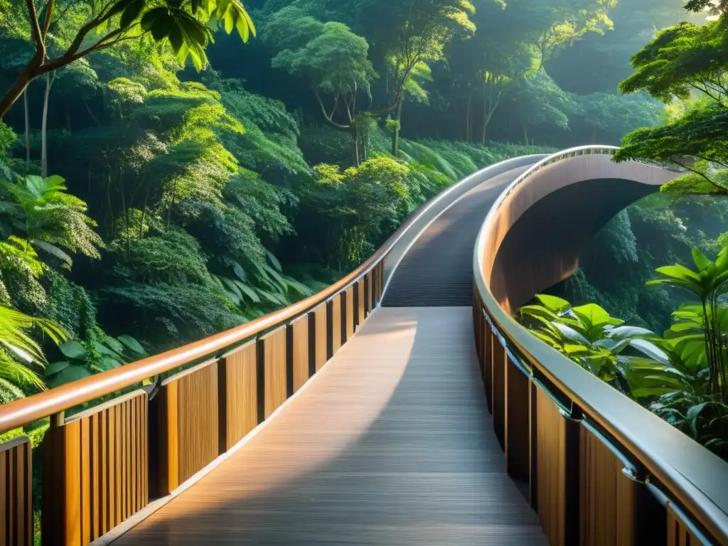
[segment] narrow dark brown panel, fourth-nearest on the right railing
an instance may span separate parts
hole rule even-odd
[[[505,460],[508,474],[528,480],[530,473],[529,421],[531,397],[529,377],[506,357],[505,373]]]

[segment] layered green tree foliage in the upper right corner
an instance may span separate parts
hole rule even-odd
[[[689,171],[665,187],[670,193],[728,194],[727,32],[722,20],[666,28],[633,57],[636,71],[620,86],[622,92],[647,92],[668,104],[674,98],[684,102],[680,110],[671,109],[673,116],[662,127],[630,133],[615,157]]]

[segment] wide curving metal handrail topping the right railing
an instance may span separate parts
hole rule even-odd
[[[585,416],[604,427],[715,539],[728,544],[728,464],[529,333],[502,309],[486,282],[486,246],[499,209],[513,191],[547,165],[577,155],[613,155],[615,150],[612,146],[581,146],[562,151],[511,183],[496,199],[478,234],[473,258],[475,287],[508,347],[558,387]]]

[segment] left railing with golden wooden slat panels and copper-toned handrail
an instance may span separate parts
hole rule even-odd
[[[502,162],[454,184],[413,213],[362,266],[315,296],[231,331],[0,406],[0,432],[50,416],[41,445],[43,544],[89,544],[232,449],[354,335],[379,304],[392,264],[432,219],[480,181],[537,159]],[[149,392],[119,395],[169,373]],[[66,411],[109,395],[111,400],[66,418]],[[0,445],[0,472],[0,545],[31,545],[28,438]]]

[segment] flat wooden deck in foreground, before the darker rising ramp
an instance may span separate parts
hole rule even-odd
[[[468,307],[380,308],[295,400],[124,545],[541,545]]]

